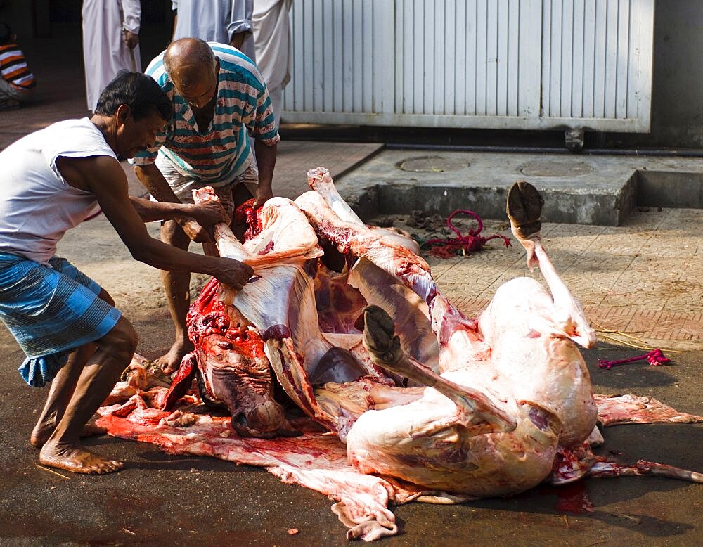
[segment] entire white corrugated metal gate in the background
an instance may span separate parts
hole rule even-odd
[[[648,131],[654,0],[296,0],[284,120]]]

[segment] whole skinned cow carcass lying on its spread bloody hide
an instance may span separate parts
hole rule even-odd
[[[138,392],[103,408],[112,435],[265,467],[335,498],[348,536],[368,541],[396,533],[389,503],[507,496],[589,474],[702,482],[695,472],[625,467],[591,452],[602,441],[599,415],[703,418],[653,399],[594,397],[577,345],[591,347],[595,333],[541,246],[533,187],[513,186],[508,212],[548,290],[514,279],[472,320],[404,236],[363,224],[325,169],[308,180],[312,190],[295,202],[266,202],[245,243],[216,226],[220,254],[250,264],[254,277],[236,294],[206,286],[188,318],[196,350],[170,391],[150,399],[165,409],[149,410]],[[284,416],[271,370],[307,423]],[[202,398],[224,404],[231,420],[194,406],[192,391],[179,398],[193,375]],[[282,437],[295,430],[299,437]]]

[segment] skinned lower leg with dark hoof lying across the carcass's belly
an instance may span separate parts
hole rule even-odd
[[[473,427],[485,423],[488,426],[486,432],[515,430],[515,420],[484,394],[446,380],[409,358],[393,333],[393,320],[383,309],[369,306],[364,310],[363,345],[375,364],[404,375],[419,385],[434,387],[456,404],[459,409],[458,422],[463,425]]]

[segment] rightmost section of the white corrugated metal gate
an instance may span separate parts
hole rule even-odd
[[[649,129],[654,3],[550,0],[542,16],[543,117]]]

